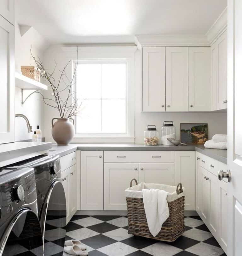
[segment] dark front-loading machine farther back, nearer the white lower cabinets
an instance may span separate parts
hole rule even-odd
[[[34,168],[44,253],[62,256],[66,237],[66,197],[59,156],[38,156],[19,162],[17,166]]]

